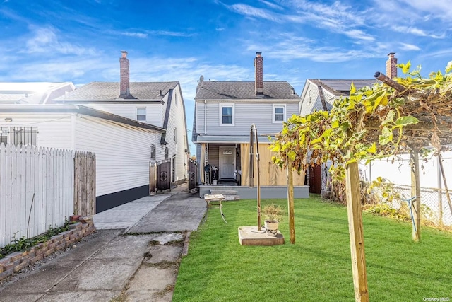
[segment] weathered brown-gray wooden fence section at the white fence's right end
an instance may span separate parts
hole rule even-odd
[[[74,215],[96,214],[96,155],[76,151],[74,156]]]

